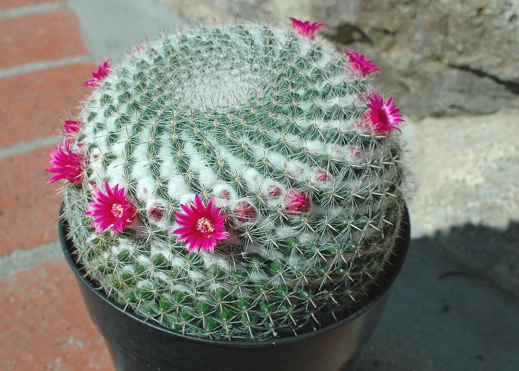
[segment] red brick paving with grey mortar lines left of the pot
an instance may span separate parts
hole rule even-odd
[[[0,369],[113,369],[61,256],[48,152],[97,68],[65,2],[0,2]]]

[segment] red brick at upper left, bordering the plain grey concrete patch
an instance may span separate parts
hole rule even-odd
[[[0,68],[87,53],[71,10],[0,20]]]

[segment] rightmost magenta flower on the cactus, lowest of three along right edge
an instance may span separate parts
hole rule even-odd
[[[390,98],[386,103],[378,93],[373,93],[369,97],[370,103],[367,104],[370,110],[364,114],[366,125],[373,129],[375,134],[387,134],[393,129],[401,131],[397,126],[403,122],[402,115],[399,114],[400,109],[393,103]]]

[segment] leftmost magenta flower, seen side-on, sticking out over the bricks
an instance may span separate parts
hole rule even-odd
[[[60,179],[66,179],[73,184],[80,184],[83,181],[83,170],[85,160],[83,156],[72,152],[69,142],[63,141],[63,148],[58,144],[58,149],[49,152],[51,159],[49,163],[52,168],[46,169],[49,173],[56,173],[47,183],[53,183]]]

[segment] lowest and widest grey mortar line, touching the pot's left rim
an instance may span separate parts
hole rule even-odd
[[[29,270],[47,260],[63,256],[60,242],[54,241],[28,250],[12,250],[0,257],[0,278],[18,271]]]

